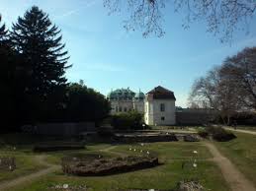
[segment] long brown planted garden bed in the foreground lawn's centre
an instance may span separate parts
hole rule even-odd
[[[158,165],[153,157],[126,157],[115,159],[70,159],[63,158],[64,173],[78,176],[101,176],[134,171]]]

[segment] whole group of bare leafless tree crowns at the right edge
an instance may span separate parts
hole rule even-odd
[[[213,108],[224,119],[235,112],[256,110],[256,47],[227,57],[192,87],[193,106]]]

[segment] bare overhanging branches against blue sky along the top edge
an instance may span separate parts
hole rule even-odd
[[[175,11],[186,13],[185,29],[192,22],[203,20],[208,24],[208,32],[220,33],[221,41],[231,40],[236,30],[249,32],[249,22],[256,9],[254,0],[104,0],[110,13],[128,13],[127,30],[142,30],[144,36],[164,34],[162,13],[167,3],[171,3]]]

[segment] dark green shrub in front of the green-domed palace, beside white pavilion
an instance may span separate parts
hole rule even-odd
[[[136,111],[120,113],[112,116],[111,125],[115,129],[129,130],[142,129],[143,115]]]

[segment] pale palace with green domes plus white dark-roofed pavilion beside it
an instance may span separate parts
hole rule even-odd
[[[176,124],[174,93],[156,87],[144,95],[134,93],[129,89],[112,91],[108,96],[111,101],[111,114],[128,111],[138,111],[144,115],[147,125],[174,125]]]

